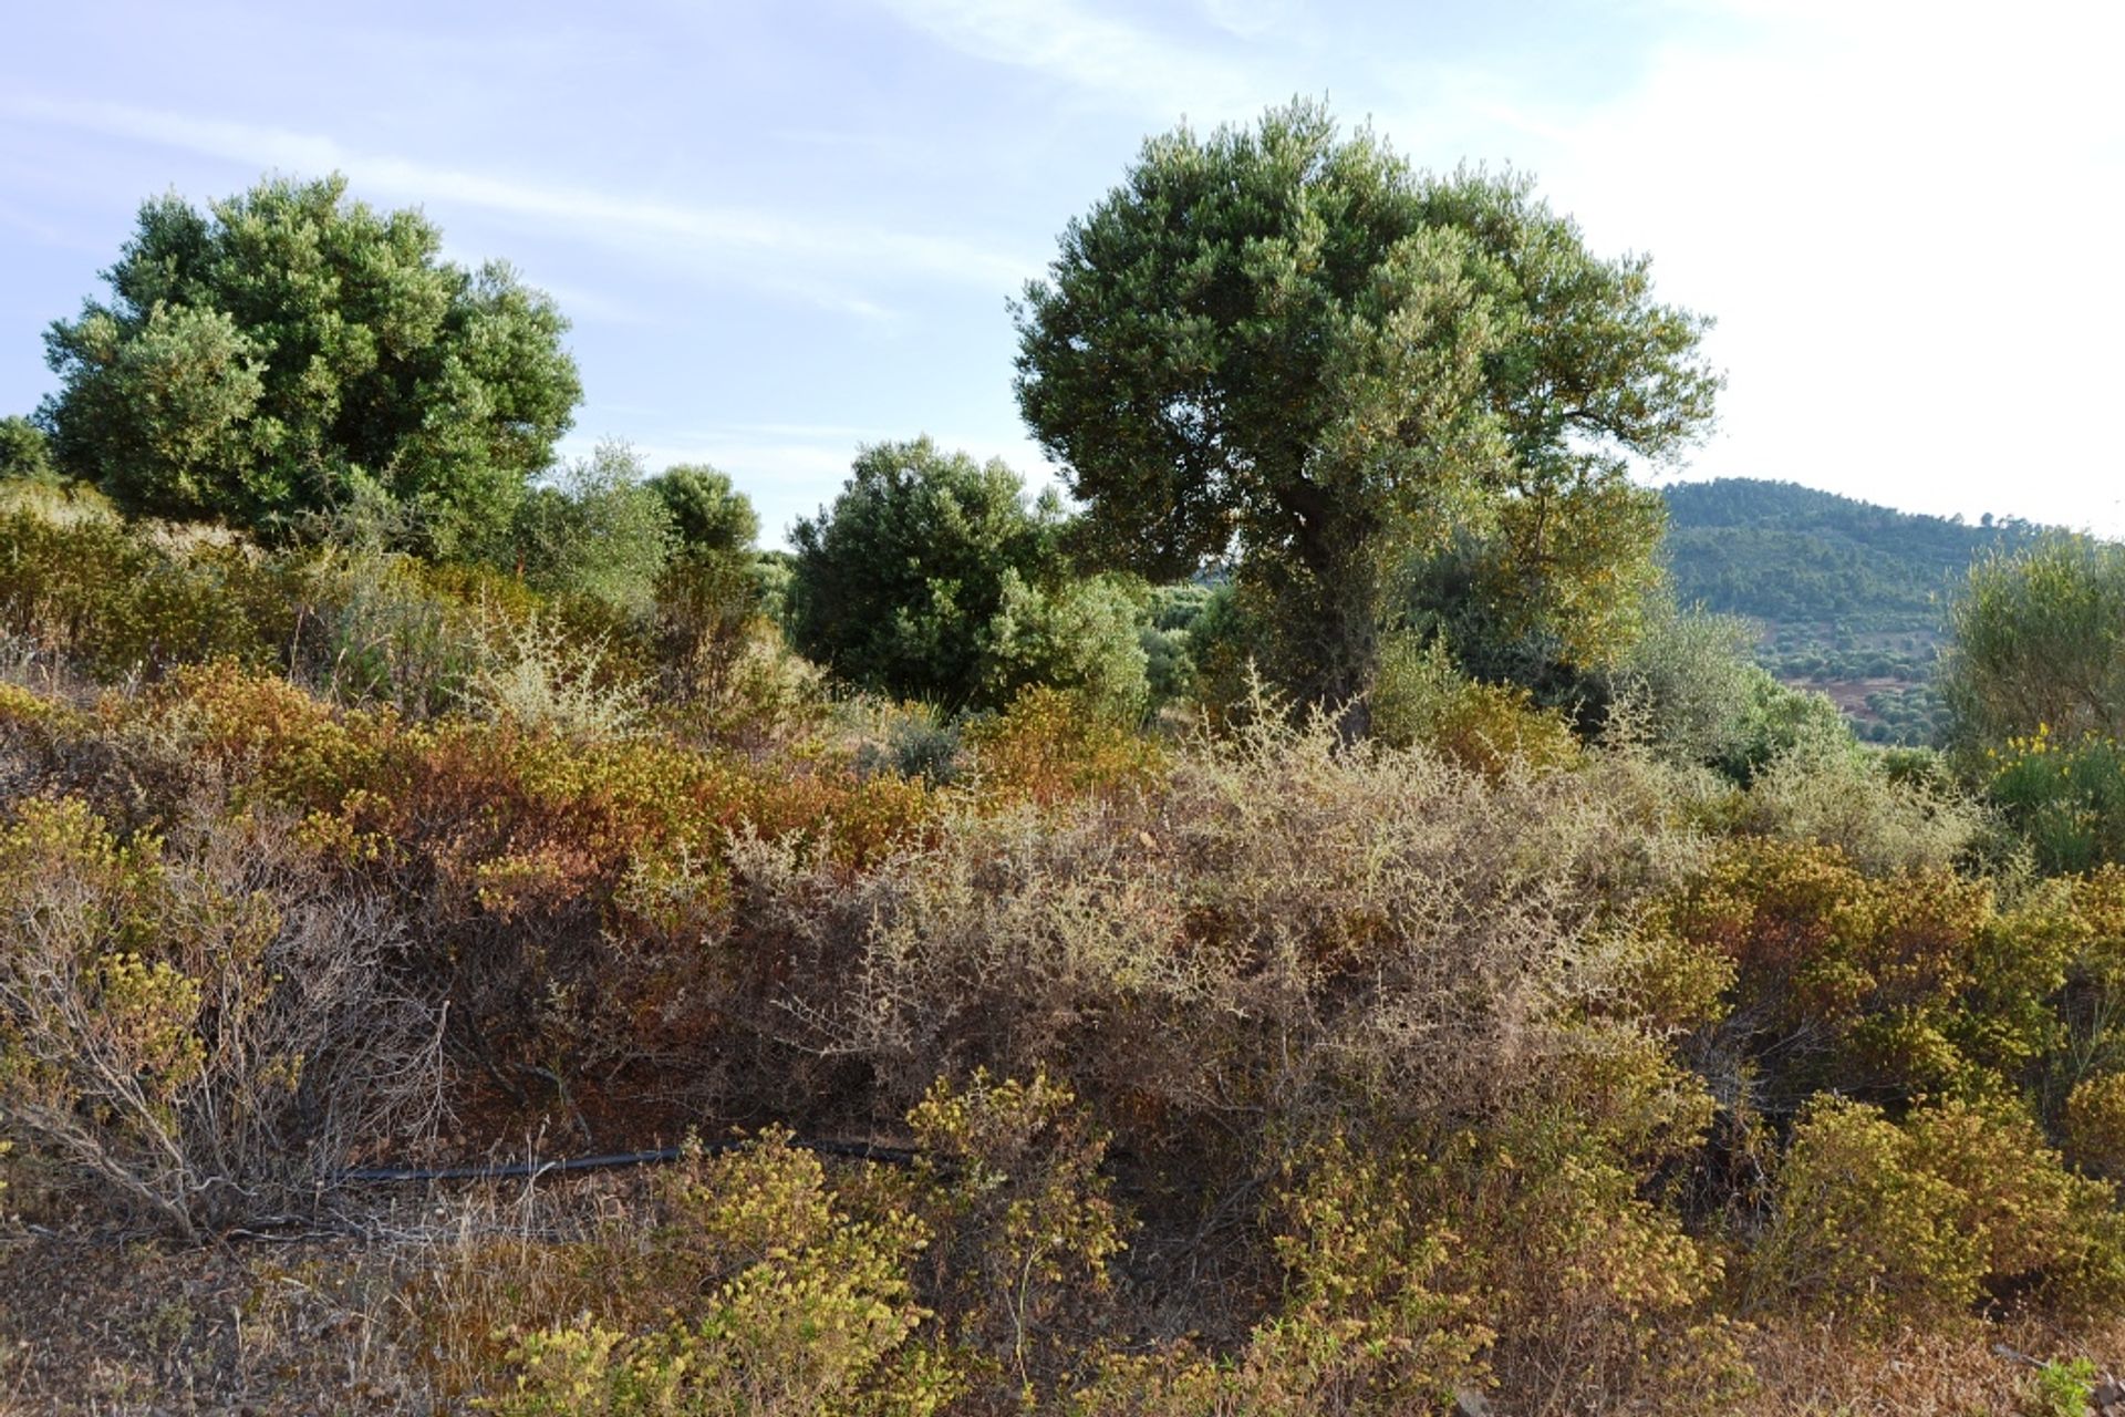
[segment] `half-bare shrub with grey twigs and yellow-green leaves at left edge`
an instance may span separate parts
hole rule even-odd
[[[19,803],[0,922],[0,1126],[119,1213],[259,1222],[434,1120],[440,1030],[389,981],[391,911],[270,824],[121,843],[81,801]]]

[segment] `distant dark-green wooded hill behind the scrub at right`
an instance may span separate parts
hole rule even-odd
[[[1828,693],[1876,741],[1932,739],[1949,601],[1976,557],[2042,531],[1755,478],[1679,482],[1664,495],[1677,597],[1757,622],[1764,665]]]

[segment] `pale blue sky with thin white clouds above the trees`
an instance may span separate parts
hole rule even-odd
[[[142,200],[344,172],[555,295],[563,455],[708,461],[767,542],[856,448],[1056,476],[1009,300],[1179,123],[1294,96],[1530,174],[1711,314],[1664,476],[2125,535],[2125,6],[1870,0],[168,0],[0,49],[0,414]]]

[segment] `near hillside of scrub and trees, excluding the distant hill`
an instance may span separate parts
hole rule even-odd
[[[332,249],[261,191],[142,242]],[[96,397],[221,393],[0,442],[23,1411],[2070,1413],[2116,1360],[2125,552],[1978,565],[1953,737],[1855,741],[1664,593],[1626,455],[1708,414],[1700,321],[1526,185],[1154,140],[1020,310],[1080,506],[884,444],[795,554],[623,446],[336,442],[421,378],[323,416],[376,348],[134,300]]]

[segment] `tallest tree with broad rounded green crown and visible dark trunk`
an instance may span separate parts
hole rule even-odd
[[[1235,557],[1279,676],[1362,731],[1436,557],[1488,633],[1628,639],[1660,533],[1628,461],[1706,427],[1704,327],[1524,178],[1420,174],[1298,102],[1152,138],[1069,223],[1018,306],[1018,399],[1103,554],[1154,578]]]

